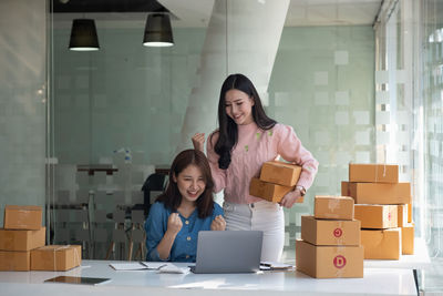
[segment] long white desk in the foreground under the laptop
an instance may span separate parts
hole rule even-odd
[[[65,273],[0,272],[0,295],[416,295],[410,269],[365,268],[363,278],[316,279],[298,272],[218,275],[116,272],[109,263],[83,261],[82,267]],[[109,277],[112,280],[99,286],[43,283],[58,275]]]

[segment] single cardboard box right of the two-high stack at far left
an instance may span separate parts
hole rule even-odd
[[[81,264],[80,245],[49,245],[31,251],[31,271],[64,272]]]

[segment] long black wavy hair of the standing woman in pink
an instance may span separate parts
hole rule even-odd
[[[261,105],[260,96],[253,82],[244,74],[230,74],[222,85],[218,101],[218,140],[214,151],[220,156],[218,167],[226,170],[230,164],[230,153],[238,142],[238,127],[235,121],[226,114],[226,93],[230,90],[239,90],[254,100],[253,119],[261,130],[270,130],[276,121],[268,118]],[[214,134],[213,134],[214,135]],[[212,141],[212,137],[210,137]]]

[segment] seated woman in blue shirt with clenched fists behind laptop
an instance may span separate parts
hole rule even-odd
[[[147,261],[195,262],[198,232],[225,231],[213,187],[203,152],[185,150],[175,157],[169,184],[151,206],[145,223]]]

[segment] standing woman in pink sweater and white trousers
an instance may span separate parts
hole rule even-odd
[[[262,231],[261,261],[280,261],[285,244],[282,206],[290,208],[306,194],[317,174],[318,162],[306,150],[291,126],[268,118],[253,82],[243,74],[229,75],[218,102],[219,129],[208,137],[214,192],[224,191],[227,231]],[[205,134],[193,136],[203,151]],[[302,167],[295,190],[280,204],[249,195],[249,183],[261,165],[280,155]]]

